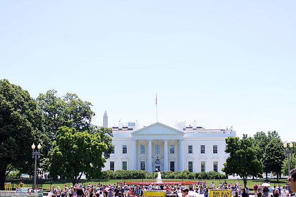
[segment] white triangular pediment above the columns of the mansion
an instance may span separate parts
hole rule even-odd
[[[151,135],[151,134],[155,134],[155,135],[184,135],[185,132],[174,129],[172,127],[169,127],[167,125],[164,125],[162,123],[154,123],[152,125],[149,125],[147,127],[144,127],[142,129],[139,129],[137,131],[134,131],[131,133],[132,135]]]

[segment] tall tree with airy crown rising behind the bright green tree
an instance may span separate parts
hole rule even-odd
[[[37,98],[49,137],[54,139],[58,128],[64,126],[76,131],[91,131],[91,119],[95,115],[90,108],[91,103],[79,99],[75,94],[67,93],[60,98],[56,93],[55,90],[49,90]]]

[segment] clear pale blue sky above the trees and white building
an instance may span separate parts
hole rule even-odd
[[[0,78],[135,121],[296,141],[296,1],[6,0]]]

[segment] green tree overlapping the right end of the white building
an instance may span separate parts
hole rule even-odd
[[[226,175],[239,175],[246,187],[248,176],[259,176],[262,174],[262,163],[256,156],[256,149],[253,146],[254,140],[252,137],[244,134],[242,139],[239,139],[239,137],[226,138],[226,144],[227,149],[225,151],[230,155],[226,159],[222,171]]]

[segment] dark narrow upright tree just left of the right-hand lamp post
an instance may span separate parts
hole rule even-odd
[[[285,160],[285,150],[282,140],[276,131],[268,131],[268,144],[264,151],[264,172],[275,173],[277,179],[281,175],[283,161]]]

